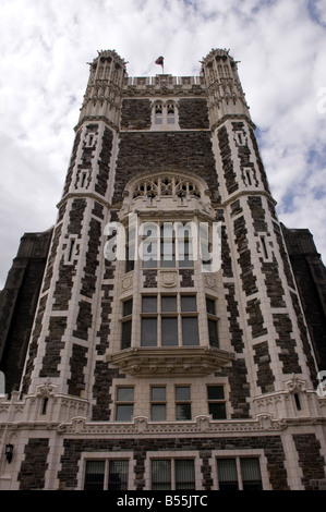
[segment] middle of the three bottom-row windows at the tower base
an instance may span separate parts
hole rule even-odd
[[[152,461],[152,490],[195,489],[193,459],[158,459]]]

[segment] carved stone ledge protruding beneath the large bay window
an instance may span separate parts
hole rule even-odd
[[[202,377],[233,359],[232,352],[213,346],[132,348],[106,354],[107,363],[137,377]]]

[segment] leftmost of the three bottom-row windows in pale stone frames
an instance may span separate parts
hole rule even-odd
[[[84,490],[128,490],[129,461],[86,461]]]

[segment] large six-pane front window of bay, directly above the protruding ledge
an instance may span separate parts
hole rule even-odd
[[[198,345],[195,295],[143,295],[142,346]]]

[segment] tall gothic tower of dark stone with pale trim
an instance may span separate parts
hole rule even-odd
[[[319,485],[325,399],[236,61],[89,65],[21,389],[1,402],[0,486]],[[209,271],[193,255],[217,225]]]

